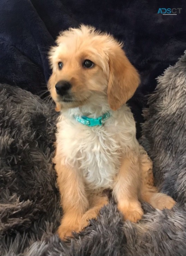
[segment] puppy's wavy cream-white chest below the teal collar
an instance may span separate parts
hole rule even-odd
[[[116,128],[69,125],[60,134],[66,161],[78,168],[88,186],[112,188],[124,149]]]

